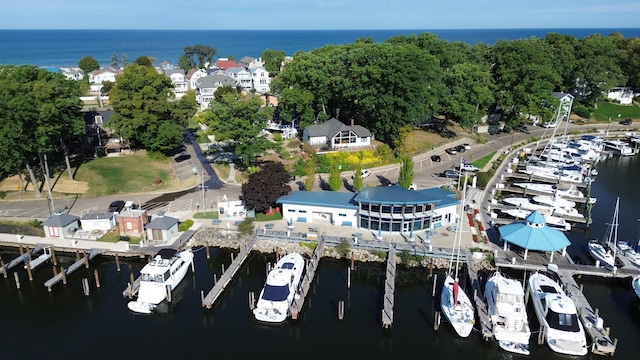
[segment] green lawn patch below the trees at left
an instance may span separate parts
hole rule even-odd
[[[160,185],[153,184],[155,177],[162,180]],[[86,161],[75,176],[76,180],[90,184],[84,194],[87,197],[167,190],[172,178],[168,160],[152,160],[144,154]]]

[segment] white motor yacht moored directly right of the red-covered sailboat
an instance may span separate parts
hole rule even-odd
[[[524,290],[518,280],[495,272],[485,285],[485,296],[493,324],[493,337],[510,352],[529,355],[529,320]]]

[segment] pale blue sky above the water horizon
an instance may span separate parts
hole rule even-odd
[[[637,28],[638,0],[17,0],[2,29]]]

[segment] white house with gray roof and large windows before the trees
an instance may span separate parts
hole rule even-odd
[[[328,145],[332,149],[370,146],[371,132],[360,125],[345,125],[332,118],[322,124],[307,126],[302,138],[310,145]]]

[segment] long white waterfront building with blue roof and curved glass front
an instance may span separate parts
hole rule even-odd
[[[456,194],[441,188],[379,186],[359,193],[294,191],[278,199],[293,222],[327,223],[391,233],[427,231],[456,223]]]

